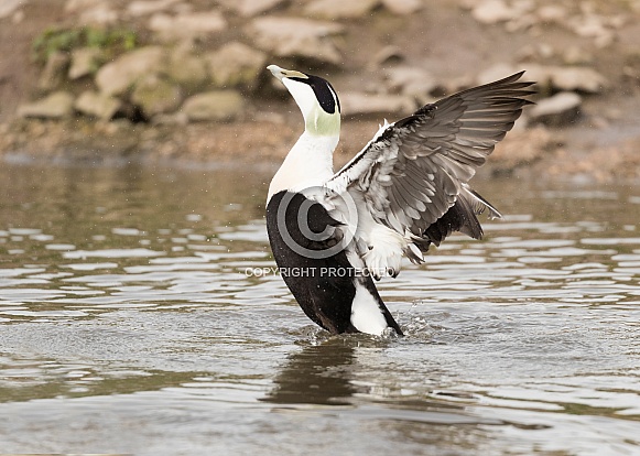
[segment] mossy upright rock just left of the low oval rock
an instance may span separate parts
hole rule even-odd
[[[139,106],[145,118],[175,111],[182,102],[178,86],[151,74],[140,79],[131,93],[131,101]]]

